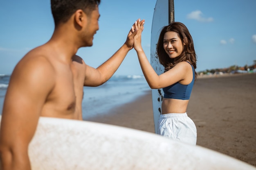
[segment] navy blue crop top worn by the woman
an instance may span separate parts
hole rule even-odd
[[[188,62],[188,61],[186,61]],[[189,62],[188,62],[189,63]],[[189,63],[190,64],[190,63]],[[190,64],[191,65],[191,64]],[[180,100],[189,100],[190,94],[192,92],[192,88],[195,81],[195,70],[193,65],[191,65],[193,70],[193,79],[191,83],[188,85],[182,85],[179,82],[170,85],[168,87],[164,87],[164,98],[173,98],[173,99],[180,99]]]

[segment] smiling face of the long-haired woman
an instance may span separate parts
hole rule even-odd
[[[168,31],[164,34],[164,50],[171,59],[180,56],[184,45],[176,32]]]

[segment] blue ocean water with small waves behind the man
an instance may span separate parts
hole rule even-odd
[[[9,84],[10,75],[0,74],[0,113]],[[82,102],[83,119],[107,114],[111,109],[124,105],[150,90],[144,76],[114,75],[99,87],[84,87]]]

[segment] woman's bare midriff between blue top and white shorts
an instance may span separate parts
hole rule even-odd
[[[185,113],[188,104],[189,104],[189,100],[163,98],[162,114]]]

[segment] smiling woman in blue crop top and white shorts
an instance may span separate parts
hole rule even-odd
[[[139,31],[135,35],[134,49],[150,88],[162,88],[164,91],[156,133],[195,145],[196,127],[186,113],[197,78],[196,54],[189,30],[180,22],[173,22],[162,28],[157,43],[157,55],[165,71],[158,75],[141,47],[143,29],[144,24],[135,22],[135,30]]]

